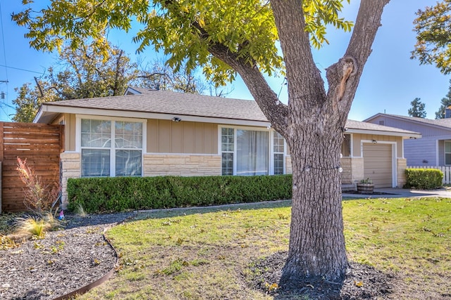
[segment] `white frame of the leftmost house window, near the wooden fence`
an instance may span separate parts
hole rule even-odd
[[[93,119],[111,122],[111,146],[109,148],[82,147],[82,119]],[[116,138],[116,122],[133,122],[142,124],[142,148],[116,148],[113,142]],[[117,150],[140,150],[141,151],[141,174],[144,174],[144,153],[147,152],[147,119],[135,119],[125,117],[106,117],[97,115],[75,115],[75,152],[80,153],[80,177],[89,178],[97,176],[82,176],[82,149],[109,150],[110,151],[110,174],[108,177],[116,177],[116,151]],[[105,176],[106,177],[106,176]]]

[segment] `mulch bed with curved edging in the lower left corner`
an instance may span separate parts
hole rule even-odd
[[[116,263],[104,230],[130,216],[66,216],[63,230],[1,250],[0,299],[55,299],[102,278]]]

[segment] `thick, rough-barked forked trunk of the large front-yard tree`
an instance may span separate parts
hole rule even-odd
[[[340,280],[345,275],[340,150],[347,115],[388,1],[361,1],[345,56],[327,70],[326,92],[304,31],[302,0],[271,0],[286,66],[288,106],[278,103],[257,67],[221,45],[209,48],[240,74],[290,148],[292,221],[282,285],[306,278]]]

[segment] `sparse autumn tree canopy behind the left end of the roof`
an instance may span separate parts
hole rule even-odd
[[[94,49],[63,48],[59,66],[49,67],[48,74],[36,80],[36,85],[23,84],[16,88],[18,96],[15,122],[32,122],[39,106],[49,101],[122,95],[130,80],[137,76],[137,67],[123,51],[111,46],[108,56],[100,56]]]

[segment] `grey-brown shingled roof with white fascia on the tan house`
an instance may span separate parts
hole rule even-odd
[[[240,100],[203,96],[192,93],[176,93],[149,89],[129,88],[124,96],[63,100],[42,104],[35,122],[50,122],[59,113],[115,115],[116,117],[148,117],[171,119],[173,116],[202,118],[202,122],[242,124],[237,121],[256,122],[262,126],[268,119],[254,100]],[[152,115],[149,115],[152,114]],[[419,133],[366,122],[347,120],[351,133],[379,132],[396,136],[416,136]]]

